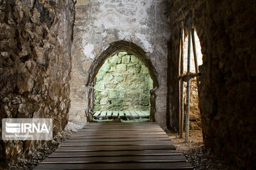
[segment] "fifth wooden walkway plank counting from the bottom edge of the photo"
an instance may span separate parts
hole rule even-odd
[[[68,146],[73,146],[73,147],[80,147],[80,146],[129,146],[129,145],[134,145],[134,146],[144,146],[144,145],[174,145],[174,142],[169,141],[125,141],[125,142],[63,142],[59,146],[60,147],[68,147]]]

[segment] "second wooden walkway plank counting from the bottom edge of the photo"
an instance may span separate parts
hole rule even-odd
[[[87,164],[87,163],[118,163],[118,162],[186,162],[181,155],[171,156],[134,156],[134,157],[51,157],[46,158],[42,164]]]

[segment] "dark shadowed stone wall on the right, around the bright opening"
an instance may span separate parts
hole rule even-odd
[[[178,37],[188,28],[188,8],[201,40],[203,65],[199,103],[203,139],[223,159],[242,169],[255,167],[255,1],[172,1],[170,4],[173,120],[178,125]],[[186,29],[186,33],[188,30]]]

